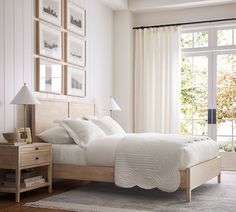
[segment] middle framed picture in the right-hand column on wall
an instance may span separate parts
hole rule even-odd
[[[65,36],[65,40],[67,44],[67,48],[65,49],[66,61],[84,67],[86,63],[85,40],[69,33]]]

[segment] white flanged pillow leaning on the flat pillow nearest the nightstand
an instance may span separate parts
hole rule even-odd
[[[95,124],[85,120],[57,120],[69,135],[81,147],[85,147],[90,141],[104,137],[106,134]]]

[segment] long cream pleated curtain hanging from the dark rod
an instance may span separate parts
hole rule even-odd
[[[179,27],[135,30],[135,132],[179,133]]]

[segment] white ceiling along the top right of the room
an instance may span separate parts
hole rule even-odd
[[[178,10],[236,3],[236,0],[100,0],[113,10],[130,10],[134,13]]]

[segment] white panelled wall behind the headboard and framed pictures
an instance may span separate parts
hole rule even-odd
[[[98,0],[73,1],[87,12],[87,98],[95,101],[101,113],[112,94],[113,12]],[[33,2],[0,0],[0,132],[22,126],[22,107],[15,109],[9,103],[23,82],[34,89]]]

